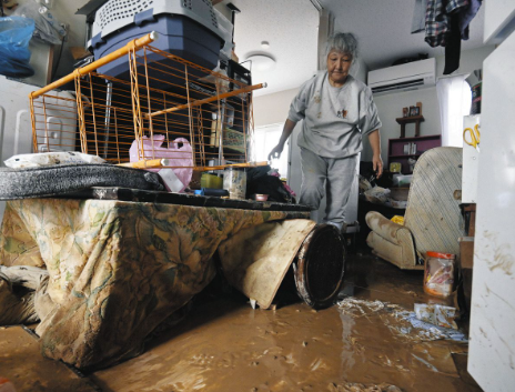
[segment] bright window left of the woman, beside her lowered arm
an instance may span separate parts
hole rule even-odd
[[[277,145],[283,132],[284,124],[272,124],[259,127],[254,130],[254,152],[258,162],[267,161],[269,153]],[[289,154],[290,140],[284,145],[284,150],[279,160],[272,161],[272,168],[277,169],[281,177],[287,178],[287,154]]]

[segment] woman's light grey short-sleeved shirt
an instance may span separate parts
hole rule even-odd
[[[370,88],[351,76],[342,88],[332,87],[326,71],[302,84],[287,118],[304,119],[299,147],[325,158],[359,153],[363,134],[381,128]]]

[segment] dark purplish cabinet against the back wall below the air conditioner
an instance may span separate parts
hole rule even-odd
[[[405,147],[410,145],[410,150],[405,152]],[[413,147],[414,145],[414,147]],[[388,139],[388,169],[390,163],[400,162],[402,164],[402,173],[411,174],[408,158],[418,159],[425,151],[442,145],[442,137],[432,134],[427,137],[398,138]]]

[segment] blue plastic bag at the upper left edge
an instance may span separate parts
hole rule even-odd
[[[21,17],[0,18],[0,74],[27,78],[34,74],[29,64],[29,41],[34,21]]]

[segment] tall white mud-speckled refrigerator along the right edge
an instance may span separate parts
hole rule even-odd
[[[488,0],[468,372],[515,391],[515,0]]]

